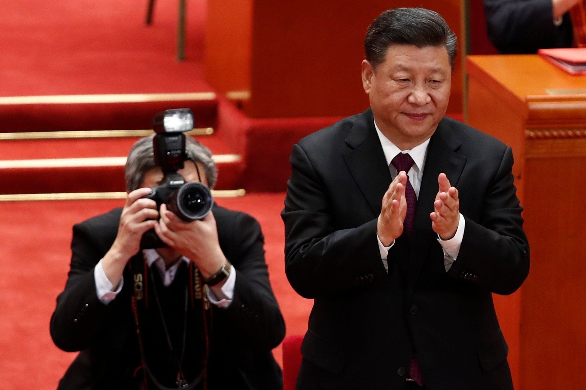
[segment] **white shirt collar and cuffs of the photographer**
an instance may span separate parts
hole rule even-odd
[[[181,264],[182,261],[185,261],[185,263],[188,264],[190,263],[189,258],[182,256],[177,261],[177,263],[173,264],[169,268],[166,268],[165,261],[156,250],[145,249],[142,251],[142,253],[147,259],[147,265],[149,268],[152,268],[153,264],[155,265],[156,270],[159,272],[159,275],[161,275],[161,279],[163,280],[163,285],[165,285],[165,287],[169,287],[169,285],[171,285],[173,282],[173,279],[175,279],[179,264]],[[96,279],[96,293],[98,299],[100,299],[102,303],[108,304],[113,301],[114,298],[116,298],[120,291],[122,291],[124,277],[120,279],[118,287],[113,291],[114,286],[111,284],[110,280],[104,272],[102,260],[104,259],[101,259],[94,268],[94,279]],[[226,298],[218,299],[217,296],[213,293],[212,289],[207,290],[207,298],[214,305],[217,305],[220,308],[227,308],[234,299],[234,284],[236,284],[236,272],[231,271],[230,275],[228,275],[228,278],[226,279],[226,282],[220,288],[220,291],[222,291],[222,294],[224,294]]]

